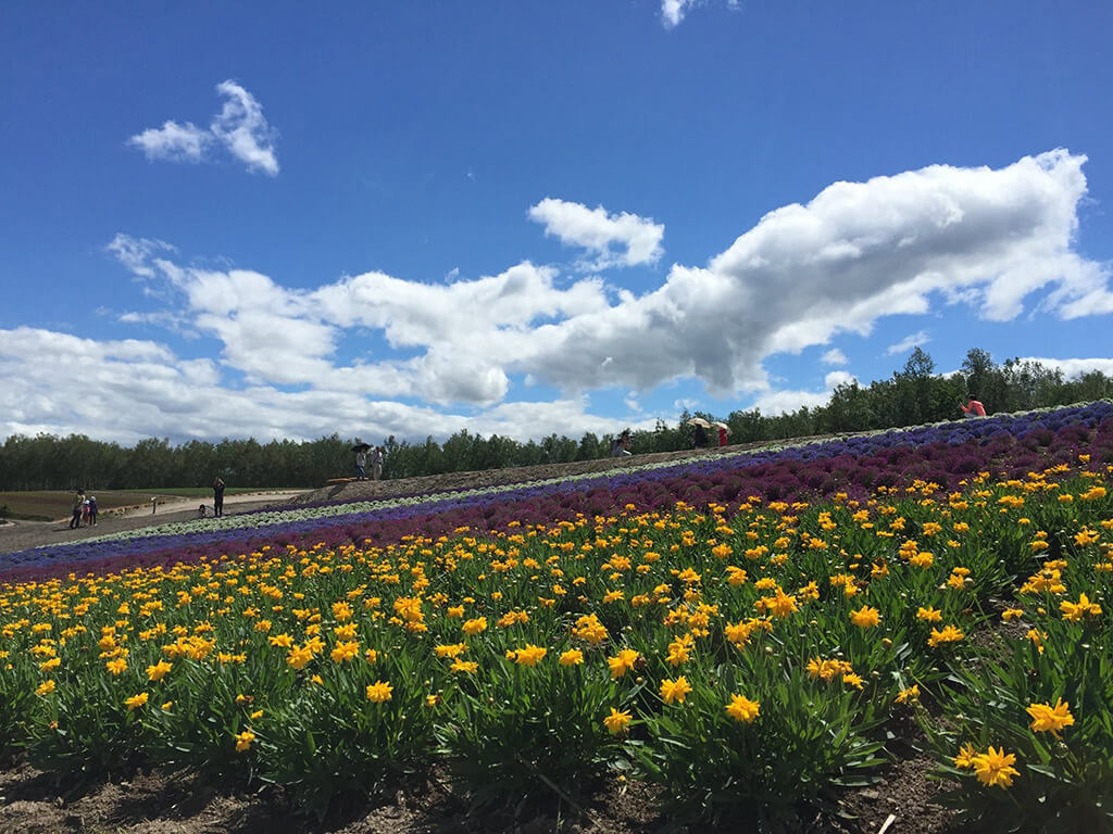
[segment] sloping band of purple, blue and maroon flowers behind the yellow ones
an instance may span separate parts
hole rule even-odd
[[[16,582],[104,573],[134,566],[217,558],[264,546],[297,548],[396,542],[405,535],[436,536],[456,527],[498,529],[511,522],[550,523],[577,514],[608,514],[627,504],[652,512],[678,500],[738,504],[816,500],[847,493],[863,498],[878,487],[919,479],[944,489],[983,470],[1023,477],[1057,464],[1113,463],[1113,404],[1097,401],[1050,411],[1003,415],[907,430],[851,436],[806,446],[740,456],[700,458],[673,466],[600,474],[516,489],[457,495],[422,504],[384,507],[292,522],[263,528],[75,543],[0,555],[0,579]],[[305,505],[301,505],[304,508]],[[292,507],[293,508],[293,507]]]

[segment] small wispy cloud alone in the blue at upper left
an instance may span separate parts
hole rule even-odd
[[[263,106],[235,81],[221,81],[216,89],[225,102],[208,128],[166,121],[161,128],[136,133],[128,145],[141,150],[147,159],[171,162],[200,162],[211,148],[223,148],[250,171],[277,175],[277,132],[263,116]]]

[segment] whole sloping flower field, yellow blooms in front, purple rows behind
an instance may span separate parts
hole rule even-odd
[[[912,745],[972,824],[1109,830],[1111,473],[1100,401],[0,555],[0,746],[791,831]]]

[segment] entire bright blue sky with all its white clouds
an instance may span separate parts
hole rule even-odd
[[[4,3],[0,438],[579,437],[917,345],[1113,374],[1111,9]]]

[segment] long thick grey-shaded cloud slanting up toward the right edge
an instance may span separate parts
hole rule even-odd
[[[768,388],[771,353],[867,335],[948,291],[986,318],[1020,315],[1036,290],[1044,311],[1074,315],[1078,299],[1110,296],[1107,268],[1071,249],[1084,161],[1056,150],[996,170],[837,182],[766,215],[706,268],[676,265],[639,298],[538,328],[519,364],[567,388],[691,376],[737,394]],[[602,356],[613,358],[605,377]]]

